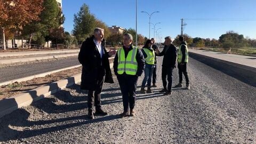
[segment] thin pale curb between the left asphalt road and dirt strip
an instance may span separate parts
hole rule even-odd
[[[57,72],[62,71],[62,70],[73,69],[73,68],[77,68],[77,67],[80,67],[80,66],[82,66],[82,65],[62,68],[62,69],[58,69],[58,70],[52,70],[52,71],[48,71],[48,72],[33,75],[33,76],[27,76],[27,77],[22,77],[22,78],[18,78],[18,79],[12,79],[11,81],[6,81],[6,82],[3,82],[3,83],[0,83],[0,86],[15,83],[15,82],[19,83],[19,82],[29,81],[30,79],[33,79],[33,78],[36,78],[36,77],[44,77],[44,76],[50,75],[52,73],[57,73]]]

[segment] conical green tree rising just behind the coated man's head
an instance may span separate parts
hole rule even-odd
[[[90,13],[89,6],[83,4],[80,11],[74,14],[74,30],[78,42],[83,42],[95,28],[95,17]]]

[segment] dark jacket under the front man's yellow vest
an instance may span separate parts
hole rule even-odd
[[[123,48],[124,48],[124,53],[125,53],[125,58],[126,58],[128,53],[129,53],[129,51],[132,50],[132,45],[130,46],[128,51],[125,50],[125,47],[123,47]],[[137,70],[137,74],[136,75],[137,76],[141,76],[141,74],[143,73],[143,70],[145,69],[145,60],[144,60],[144,57],[143,57],[143,54],[142,54],[141,50],[139,50],[139,49],[138,49],[137,54],[136,54],[136,60],[137,60],[137,63],[138,63],[138,70]],[[114,68],[115,75],[119,76],[119,74],[117,74],[117,66],[118,66],[118,54],[116,53],[116,56],[115,56],[115,59],[114,59],[114,66],[113,66],[113,68]]]

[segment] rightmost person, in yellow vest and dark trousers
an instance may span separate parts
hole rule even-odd
[[[187,63],[188,63],[188,46],[187,42],[184,41],[184,37],[179,37],[180,47],[178,52],[178,69],[179,69],[179,84],[174,87],[182,87],[182,73],[186,79],[186,89],[189,90],[189,79],[187,72]]]

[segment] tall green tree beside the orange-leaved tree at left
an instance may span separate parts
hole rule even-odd
[[[50,31],[52,29],[59,28],[64,20],[64,15],[61,14],[61,9],[55,0],[44,0],[43,2],[44,10],[39,15],[40,21],[33,21],[27,25],[24,30],[22,31],[22,36],[29,37],[29,44],[31,40],[34,41],[43,38],[49,38]],[[33,38],[34,37],[34,38]],[[46,39],[50,41],[52,39]],[[42,42],[42,41],[39,41]],[[39,43],[41,44],[41,43]]]

